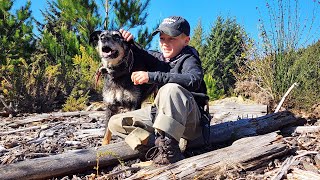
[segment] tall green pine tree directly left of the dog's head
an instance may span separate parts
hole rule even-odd
[[[48,53],[52,64],[60,64],[60,81],[69,94],[81,77],[75,72],[73,58],[81,54],[80,45],[93,54],[89,36],[101,25],[101,18],[93,0],[56,0],[47,1],[47,5],[42,12],[44,23],[38,22],[40,47]]]

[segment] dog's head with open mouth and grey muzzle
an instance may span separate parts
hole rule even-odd
[[[90,43],[96,45],[104,67],[121,63],[129,48],[119,31],[95,31],[90,35]]]

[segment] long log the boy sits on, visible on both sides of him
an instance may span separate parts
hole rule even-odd
[[[279,112],[254,119],[241,119],[210,127],[210,144],[234,141],[243,137],[266,134],[284,126],[298,122],[290,112]],[[202,138],[188,143],[189,148],[205,146]],[[110,156],[101,157],[99,166],[110,166],[119,159],[137,158],[125,142],[110,144],[98,149],[86,149],[64,154],[25,160],[15,164],[0,166],[0,179],[44,179],[93,169],[97,164],[97,153],[107,152]],[[114,156],[116,155],[116,157]]]

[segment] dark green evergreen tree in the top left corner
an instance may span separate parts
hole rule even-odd
[[[11,14],[13,2],[0,1],[0,65],[19,58],[29,60],[34,51],[31,2]]]

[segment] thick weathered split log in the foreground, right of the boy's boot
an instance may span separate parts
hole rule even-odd
[[[184,159],[165,167],[140,170],[130,179],[211,179],[229,169],[252,170],[283,156],[289,147],[277,133],[247,137],[231,146]]]

